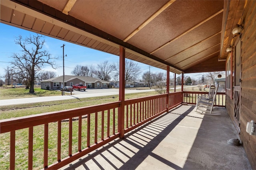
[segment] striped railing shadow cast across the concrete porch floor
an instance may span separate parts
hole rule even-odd
[[[151,156],[174,169],[182,167],[153,152],[161,141],[186,117],[195,106],[179,106],[168,113],[125,134],[124,139],[115,139],[79,160],[60,169],[136,169]],[[171,154],[171,153],[170,153]]]

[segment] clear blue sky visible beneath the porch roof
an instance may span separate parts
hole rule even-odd
[[[10,66],[10,63],[8,62],[12,61],[11,56],[14,53],[22,54],[21,47],[14,42],[15,37],[21,35],[24,39],[26,37],[29,37],[30,35],[36,35],[36,33],[26,31],[24,29],[10,26],[4,23],[0,23],[0,32],[0,77],[2,77],[5,74],[4,68]],[[44,36],[44,39],[46,41],[46,43],[44,44],[46,51],[48,51],[48,53],[50,53],[53,57],[59,57],[59,59],[55,60],[55,63],[58,65],[58,68],[56,70],[52,69],[51,66],[44,66],[43,70],[54,71],[56,72],[57,76],[61,76],[63,74],[63,49],[61,47],[63,44],[65,44],[64,55],[67,55],[67,57],[64,58],[65,75],[72,75],[71,72],[77,64],[86,66],[93,65],[96,67],[98,63],[102,63],[104,61],[109,61],[109,63],[119,62],[119,57],[116,55],[104,53],[73,43],[68,43],[66,41],[54,39],[48,36]],[[149,70],[148,65],[146,64],[138,63],[138,66],[141,68],[141,75]],[[150,72],[155,73],[166,71],[159,68],[150,67]],[[170,76],[172,77],[172,73],[170,73]]]

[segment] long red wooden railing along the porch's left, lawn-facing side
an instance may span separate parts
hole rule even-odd
[[[168,105],[166,104],[168,101]],[[132,129],[154,119],[158,115],[176,107],[182,103],[182,92],[150,96],[146,98],[137,98],[126,100],[124,102],[124,127],[125,133]],[[70,162],[96,150],[97,148],[120,137],[118,132],[118,108],[121,101],[97,106],[80,107],[62,111],[54,111],[0,121],[0,133],[10,132],[10,169],[15,169],[16,158],[16,132],[20,130],[28,131],[28,150],[22,152],[28,153],[28,169],[33,168],[33,147],[36,143],[34,135],[44,126],[43,132],[43,167],[44,169],[57,169]],[[167,109],[167,107],[169,107]],[[117,114],[118,113],[118,114]],[[78,129],[74,130],[73,124],[78,124]],[[63,125],[67,125],[64,129]],[[57,135],[49,135],[53,128],[57,128]],[[42,130],[41,130],[42,131]],[[68,145],[63,148],[63,133],[68,131]],[[36,132],[36,133],[34,133]],[[77,133],[77,135],[74,135]],[[56,139],[55,160],[48,160],[49,144],[53,142],[50,139]],[[74,145],[74,141],[77,143]],[[26,147],[25,147],[26,148]],[[48,165],[50,162],[50,165]],[[38,167],[37,167],[38,168]],[[40,167],[39,167],[40,168]]]

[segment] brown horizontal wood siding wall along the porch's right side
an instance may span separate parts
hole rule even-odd
[[[252,169],[256,169],[256,135],[250,135],[246,132],[247,122],[251,120],[256,121],[256,1],[247,2],[242,16],[242,25],[244,29],[241,36],[242,82],[240,139],[252,165]],[[226,98],[226,108],[231,119],[234,119],[233,105],[234,100]]]

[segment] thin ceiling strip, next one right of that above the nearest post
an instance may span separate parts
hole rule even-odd
[[[158,47],[157,49],[155,49],[154,51],[152,51],[150,54],[153,54],[153,53],[155,53],[156,51],[158,51],[158,50],[164,48],[166,45],[172,43],[173,41],[179,39],[179,38],[182,37],[183,35],[189,33],[190,31],[192,31],[192,30],[194,30],[194,29],[196,29],[197,27],[199,27],[199,26],[202,25],[203,23],[209,21],[210,19],[214,18],[215,16],[217,16],[218,14],[220,14],[220,13],[222,13],[222,12],[223,12],[223,9],[219,10],[218,12],[216,12],[215,14],[213,14],[212,16],[206,18],[205,20],[203,20],[203,21],[201,21],[200,23],[196,24],[194,27],[192,27],[192,28],[188,29],[187,31],[185,31],[184,33],[180,34],[178,37],[176,37],[176,38],[174,38],[174,39],[168,41],[167,43],[165,43],[165,44],[162,45],[161,47]]]

